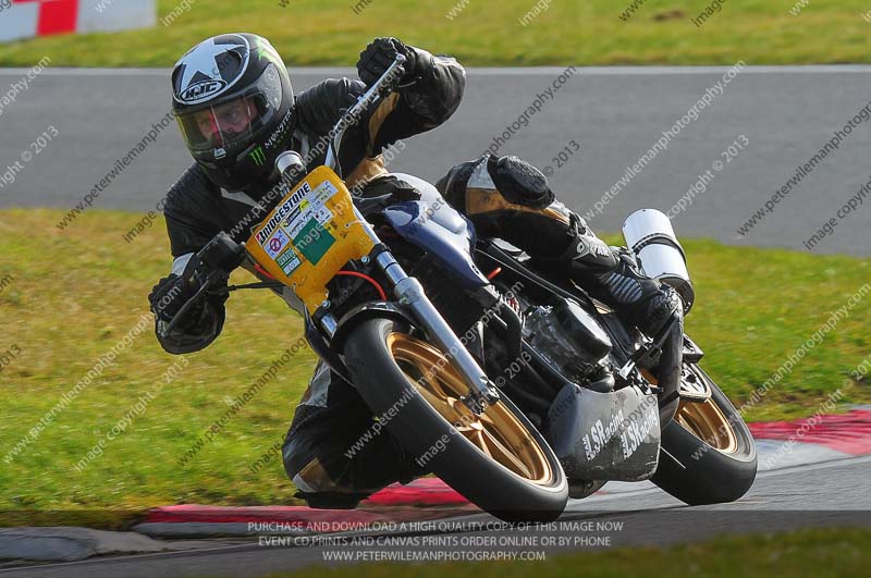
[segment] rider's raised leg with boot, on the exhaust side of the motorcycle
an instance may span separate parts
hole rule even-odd
[[[547,177],[517,157],[484,155],[457,164],[436,186],[479,234],[524,249],[648,334],[657,333],[679,305],[674,291],[641,274],[626,251],[597,237],[555,200]]]

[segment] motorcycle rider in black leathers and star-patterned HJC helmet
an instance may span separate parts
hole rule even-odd
[[[360,53],[360,81],[327,79],[294,95],[275,49],[252,34],[224,34],[196,45],[172,71],[173,111],[195,163],[171,187],[164,217],[172,272],[149,300],[156,334],[169,353],[201,349],[221,332],[225,296],[209,296],[169,322],[199,287],[196,253],[224,231],[243,242],[287,192],[273,169],[284,150],[309,169],[323,163],[324,135],[396,54],[406,58],[393,93],[349,127],[336,170],[349,187],[407,186],[388,176],[381,151],[430,131],[457,109],[465,70],[396,38],[377,38]],[[642,276],[625,251],[612,250],[584,220],[556,201],[544,175],[517,157],[479,159],[452,168],[437,187],[479,234],[501,237],[554,272],[568,275],[648,334],[677,307],[674,292]],[[425,474],[385,430],[352,453],[372,425],[353,385],[319,365],[300,399],[283,446],[284,467],[312,506],[353,507],[394,481]]]

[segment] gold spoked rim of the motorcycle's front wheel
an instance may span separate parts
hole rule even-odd
[[[439,349],[404,333],[391,333],[387,344],[408,382],[480,452],[533,483],[553,481],[544,452],[505,404],[475,414],[461,399],[469,386]]]

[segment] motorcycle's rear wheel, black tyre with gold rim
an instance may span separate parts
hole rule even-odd
[[[701,380],[712,395],[706,402],[680,401],[675,418],[662,432],[663,451],[651,481],[690,505],[734,502],[756,479],[753,436],[700,367],[685,366],[687,377]]]

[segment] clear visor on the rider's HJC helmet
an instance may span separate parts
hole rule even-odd
[[[182,136],[193,152],[220,159],[246,148],[275,116],[282,101],[281,77],[270,64],[242,95],[177,114]]]

